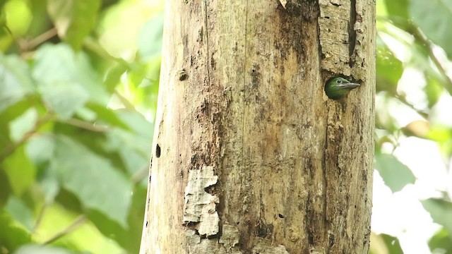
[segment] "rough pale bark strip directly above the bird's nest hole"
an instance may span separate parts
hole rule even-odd
[[[350,75],[349,35],[350,1],[319,0],[322,68]],[[354,24],[352,24],[354,25]]]

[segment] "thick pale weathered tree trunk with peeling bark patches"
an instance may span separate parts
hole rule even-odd
[[[168,0],[163,40],[141,253],[367,253],[375,1]]]

